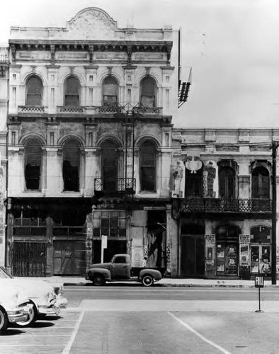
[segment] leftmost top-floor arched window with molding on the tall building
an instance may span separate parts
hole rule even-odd
[[[25,105],[43,105],[44,81],[38,73],[25,76]]]

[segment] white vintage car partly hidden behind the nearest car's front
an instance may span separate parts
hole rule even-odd
[[[0,287],[6,284],[16,287],[28,297],[28,302],[33,304],[28,319],[18,321],[18,326],[30,326],[40,316],[47,314],[58,316],[60,309],[67,308],[68,301],[62,296],[62,285],[52,285],[45,280],[13,278],[5,268],[0,267]]]

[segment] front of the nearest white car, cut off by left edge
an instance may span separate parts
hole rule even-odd
[[[0,336],[11,324],[28,321],[33,304],[13,285],[0,287]]]

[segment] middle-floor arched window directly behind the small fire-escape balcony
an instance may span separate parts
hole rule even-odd
[[[118,186],[118,144],[106,140],[101,145],[103,192],[116,192]]]

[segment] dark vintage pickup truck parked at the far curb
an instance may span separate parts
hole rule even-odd
[[[128,254],[115,254],[109,263],[91,264],[86,279],[93,285],[105,285],[113,280],[134,280],[150,287],[164,275],[164,268],[133,268]]]

